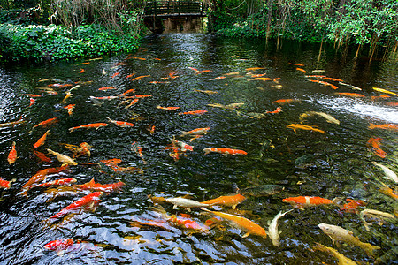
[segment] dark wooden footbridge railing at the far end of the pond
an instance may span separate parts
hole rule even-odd
[[[153,1],[145,7],[145,17],[205,17],[207,4],[199,1]]]

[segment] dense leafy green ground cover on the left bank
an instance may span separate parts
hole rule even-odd
[[[97,57],[119,52],[132,52],[138,47],[138,35],[118,35],[104,27],[66,27],[0,25],[0,47],[9,60],[59,60],[74,57]]]

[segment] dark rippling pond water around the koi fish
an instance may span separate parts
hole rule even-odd
[[[398,62],[376,58],[369,64],[367,57],[352,59],[356,50],[348,50],[344,57],[331,47],[318,61],[318,49],[301,42],[284,42],[277,50],[273,43],[259,40],[163,34],[144,38],[142,49],[133,55],[2,66],[0,177],[14,181],[0,190],[0,264],[337,264],[333,255],[314,249],[316,243],[333,247],[358,264],[397,264],[397,183],[383,178],[385,173],[374,163],[398,172]],[[64,100],[72,87],[51,84],[71,84],[72,95]],[[102,87],[115,89],[99,90]],[[134,93],[119,96],[129,89]],[[41,96],[29,106],[31,96],[24,94]],[[134,98],[126,98],[132,95],[151,96],[133,104]],[[103,96],[111,98],[94,98]],[[295,101],[276,102],[280,99]],[[242,104],[225,108],[232,103]],[[72,115],[65,110],[69,104],[75,104]],[[207,112],[179,114],[192,110]],[[20,117],[23,122],[4,125]],[[34,127],[53,117],[57,123]],[[108,117],[134,126],[115,125]],[[93,123],[108,125],[69,130]],[[287,127],[292,124],[321,132],[294,131]],[[387,129],[371,128],[371,124]],[[180,136],[205,127],[210,130],[198,139]],[[44,144],[34,148],[48,130]],[[180,150],[176,156],[173,138],[193,146],[193,151]],[[18,158],[9,164],[13,141]],[[65,144],[80,146],[81,142],[91,146],[91,155],[75,158],[78,165],[49,174],[42,182],[75,178],[73,185],[81,185],[94,178],[103,185],[119,181],[125,185],[120,191],[103,193],[95,206],[88,203],[74,210],[74,215],[43,222],[91,192],[70,188],[72,193],[54,196],[48,193],[50,188],[65,191],[65,186],[33,187],[24,196],[22,186],[34,174],[62,164],[53,155],[49,155],[52,162],[42,162],[33,150],[48,154],[50,148],[72,157]],[[247,155],[204,155],[203,148],[233,148]],[[100,163],[113,158],[121,160],[119,167]],[[217,221],[201,208],[188,211],[162,203],[166,216],[162,215],[149,199],[149,195],[188,196],[206,201],[266,184],[284,190],[269,196],[245,195],[247,199],[235,209],[208,209],[247,218],[265,230],[280,211],[293,209],[278,221],[279,246],[272,244],[269,235],[263,238],[252,232],[243,237],[247,230],[225,219]],[[393,189],[390,195],[380,192],[383,185]],[[337,199],[335,204],[304,209],[282,201],[297,196]],[[341,209],[347,199],[365,205],[347,212]],[[389,213],[395,219],[379,222],[365,216],[371,223],[368,231],[359,215],[364,209]],[[171,216],[181,214],[201,225],[209,219],[214,224],[205,231],[190,230],[172,222]],[[148,220],[157,223],[142,223]],[[344,242],[337,246],[319,223],[352,231],[357,239],[379,249],[368,255],[359,246]],[[74,244],[57,252],[44,248],[57,239],[73,239]]]

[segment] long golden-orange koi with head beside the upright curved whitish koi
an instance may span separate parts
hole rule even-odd
[[[222,213],[222,212],[210,211],[207,208],[201,208],[201,209],[203,209],[207,212],[210,212],[213,215],[220,216],[220,217],[232,222],[234,225],[241,228],[241,230],[246,231],[246,234],[244,234],[242,236],[242,238],[246,238],[250,234],[257,235],[257,236],[260,236],[263,238],[267,237],[267,232],[264,230],[263,227],[254,223],[253,221],[250,221],[249,219],[247,219],[245,217],[233,216],[233,215]]]

